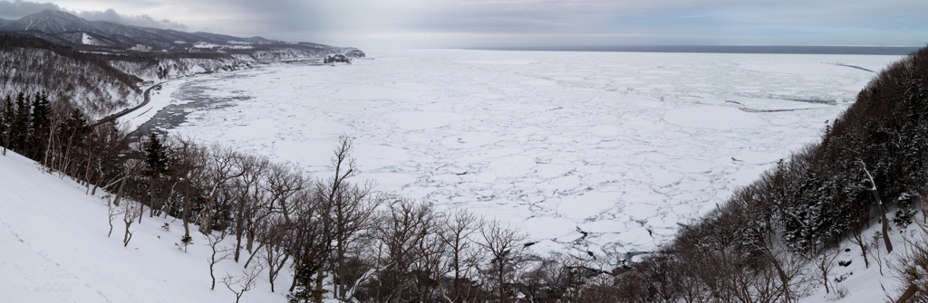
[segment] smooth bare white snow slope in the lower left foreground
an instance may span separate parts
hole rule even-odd
[[[107,233],[108,210],[100,195],[68,177],[43,174],[13,152],[0,156],[0,302],[233,302],[217,281],[210,290],[207,257],[200,234],[187,253],[178,250],[180,221],[148,218],[132,225],[135,235],[122,246],[122,216]],[[100,194],[101,191],[97,191]],[[170,224],[170,231],[162,229]],[[241,265],[221,261],[217,280],[241,274]],[[277,293],[267,276],[242,302],[284,302],[290,273],[281,271]]]

